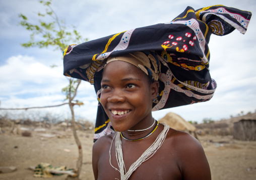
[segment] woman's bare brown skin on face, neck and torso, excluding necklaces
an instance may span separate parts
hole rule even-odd
[[[137,139],[147,135],[127,131],[150,127],[152,101],[158,94],[158,82],[149,83],[147,75],[132,64],[114,61],[107,64],[102,78],[101,104],[116,131],[123,136]],[[125,112],[121,115],[117,112]],[[163,124],[149,137],[129,141],[121,138],[126,171],[155,141],[163,130]],[[136,135],[137,134],[137,135]],[[93,145],[93,172],[95,179],[120,179],[120,172],[109,163],[109,149],[115,133],[99,138]],[[117,168],[115,142],[110,149],[111,164]],[[211,179],[205,152],[193,136],[169,129],[162,146],[132,173],[129,179]]]

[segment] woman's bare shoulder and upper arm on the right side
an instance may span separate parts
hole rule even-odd
[[[201,143],[192,135],[172,128],[167,135],[167,146],[175,154],[183,179],[211,179],[210,167]]]

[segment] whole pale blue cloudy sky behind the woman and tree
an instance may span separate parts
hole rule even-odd
[[[153,112],[161,119],[174,112],[185,120],[203,121],[204,118],[220,120],[256,110],[256,2],[244,1],[167,1],[167,0],[53,0],[52,9],[67,27],[74,25],[77,31],[89,40],[98,39],[134,28],[166,23],[182,13],[187,6],[195,10],[212,5],[224,5],[252,12],[245,35],[237,30],[229,35],[211,36],[210,73],[218,84],[215,95],[208,102],[180,106]],[[63,76],[62,52],[53,48],[25,49],[20,44],[30,39],[30,32],[19,26],[19,14],[37,23],[38,12],[44,7],[36,0],[0,0],[0,107],[22,108],[50,106],[63,103],[61,89],[68,85]],[[72,42],[71,42],[72,44]],[[57,65],[51,68],[51,65]],[[95,121],[98,101],[92,85],[82,82],[77,98],[84,102],[75,107],[77,118]],[[35,110],[34,110],[35,111]],[[34,112],[33,111],[33,112]],[[37,109],[70,117],[69,106]],[[0,113],[6,111],[0,110]],[[16,111],[17,112],[17,111]],[[31,112],[31,111],[27,111]]]

